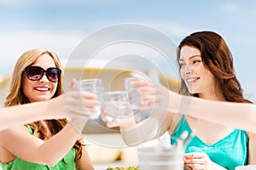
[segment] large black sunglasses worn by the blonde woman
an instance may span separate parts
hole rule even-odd
[[[32,81],[40,80],[44,76],[44,72],[50,82],[58,82],[61,77],[61,70],[55,67],[49,67],[44,71],[39,66],[27,66],[25,71],[27,78]]]

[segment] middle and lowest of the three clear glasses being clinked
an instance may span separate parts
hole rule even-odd
[[[102,93],[102,109],[108,122],[130,116],[129,99],[126,91],[107,91]]]

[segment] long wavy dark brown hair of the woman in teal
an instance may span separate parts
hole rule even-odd
[[[250,102],[243,97],[241,84],[236,78],[233,57],[223,37],[213,31],[198,31],[190,34],[177,47],[177,63],[183,46],[200,50],[203,65],[215,77],[215,93],[218,97],[230,102]],[[198,94],[189,93],[182,79],[179,93],[198,97]]]

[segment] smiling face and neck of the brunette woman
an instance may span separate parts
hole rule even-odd
[[[203,99],[218,99],[214,92],[214,76],[203,65],[199,49],[189,46],[181,48],[179,65],[181,77],[190,94],[199,94]]]

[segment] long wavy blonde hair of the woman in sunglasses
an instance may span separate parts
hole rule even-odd
[[[18,61],[16,62],[14,72],[10,78],[10,87],[9,94],[6,97],[4,102],[5,107],[13,106],[13,105],[22,105],[30,103],[27,99],[26,95],[23,93],[21,88],[22,83],[22,75],[27,66],[32,65],[38,57],[43,54],[49,54],[49,56],[54,60],[56,68],[61,69],[61,62],[58,59],[57,55],[49,52],[44,48],[36,48],[26,51],[24,54],[20,56]],[[59,82],[57,82],[57,88],[53,98],[61,95],[63,93],[62,88],[62,75],[60,77]],[[36,113],[35,113],[36,114]],[[49,122],[49,131],[51,134],[56,134],[61,131],[61,129],[67,124],[67,119],[56,119],[56,120],[48,120]],[[38,137],[39,139],[46,139],[47,129],[41,122],[32,122],[29,123],[28,126],[32,127],[33,135]],[[77,141],[74,144],[73,148],[76,150],[75,162],[79,161],[82,156],[82,146],[81,142]]]

